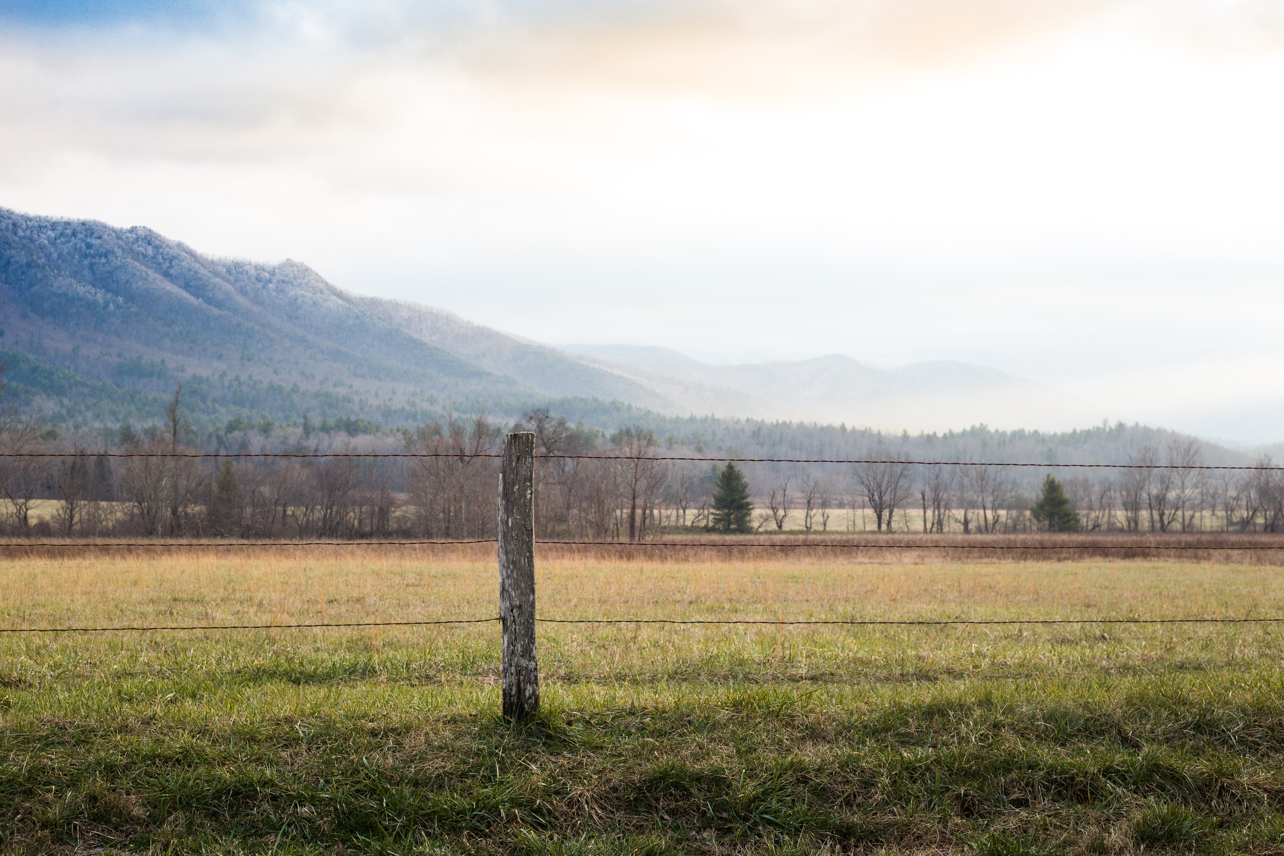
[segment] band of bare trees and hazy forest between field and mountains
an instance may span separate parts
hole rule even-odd
[[[3,400],[3,399],[0,399]],[[864,463],[745,462],[755,531],[1034,531],[1030,507],[1054,474],[1089,531],[1280,531],[1284,471],[1141,426],[1046,434],[984,426],[887,435],[846,426],[627,413],[597,427],[548,408],[519,420],[443,415],[384,429],[363,418],[297,424],[234,417],[200,430],[186,388],[159,418],[59,430],[8,402],[0,452],[10,535],[235,538],[479,538],[494,534],[493,457],[507,430],[533,430],[542,536],[642,540],[706,530],[719,461],[824,458]],[[155,413],[155,412],[154,412]],[[610,408],[597,418],[612,415]],[[619,416],[614,413],[612,416]],[[601,425],[601,422],[598,422]],[[202,452],[211,458],[110,458],[107,452]],[[273,458],[263,453],[326,457]],[[342,453],[342,454],[335,454]],[[437,457],[376,458],[379,453]],[[335,454],[335,457],[327,457]],[[931,462],[942,462],[933,466]],[[1036,467],[990,466],[1036,463]],[[1070,468],[1063,465],[1141,468]],[[1270,465],[1269,458],[1257,461]]]

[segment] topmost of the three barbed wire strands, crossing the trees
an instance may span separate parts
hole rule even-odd
[[[0,452],[0,458],[502,458],[498,452]],[[1023,463],[1009,461],[919,461],[887,458],[713,458],[650,454],[537,454],[537,461],[697,461],[705,463],[847,463],[933,467],[1035,467],[1081,470],[1244,470],[1278,471],[1284,466],[1179,463]]]

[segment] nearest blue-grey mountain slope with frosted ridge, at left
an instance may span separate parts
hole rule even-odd
[[[55,422],[154,418],[178,382],[198,421],[413,425],[447,409],[512,416],[568,394],[666,404],[484,327],[438,347],[404,322],[415,307],[384,303],[293,261],[213,259],[144,227],[0,209],[8,397]]]

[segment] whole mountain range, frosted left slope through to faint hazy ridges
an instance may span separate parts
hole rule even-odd
[[[177,384],[194,422],[412,426],[550,406],[603,429],[641,415],[941,430],[1066,429],[1103,413],[953,362],[849,357],[714,366],[663,348],[548,347],[449,312],[351,294],[306,264],[202,255],[145,227],[0,209],[5,395],[54,424],[148,422]]]

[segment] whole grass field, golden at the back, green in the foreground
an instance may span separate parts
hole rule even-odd
[[[0,628],[494,615],[493,547],[15,553]],[[1284,616],[1278,566],[546,551],[547,617]],[[1284,628],[0,637],[0,851],[1284,853]]]

